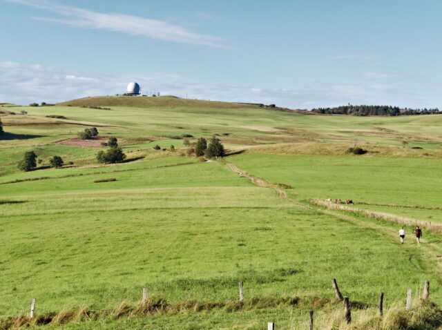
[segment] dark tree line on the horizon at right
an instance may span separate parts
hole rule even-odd
[[[439,115],[442,114],[438,108],[399,108],[398,106],[336,106],[334,108],[314,108],[313,113],[325,115],[354,115],[354,116],[401,116],[401,115]]]

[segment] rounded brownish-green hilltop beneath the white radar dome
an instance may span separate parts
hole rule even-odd
[[[130,106],[137,108],[164,107],[206,107],[206,108],[253,108],[252,104],[240,104],[221,101],[203,101],[199,99],[181,99],[174,96],[161,97],[133,97],[133,96],[95,96],[83,99],[64,101],[59,106]]]

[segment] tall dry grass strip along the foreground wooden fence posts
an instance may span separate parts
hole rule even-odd
[[[263,309],[325,309],[324,313],[314,320],[314,329],[321,330],[423,330],[441,329],[442,311],[436,304],[427,300],[416,300],[410,310],[406,310],[403,304],[396,302],[392,307],[385,309],[384,316],[378,315],[378,309],[368,307],[355,311],[352,323],[345,321],[342,303],[336,300],[324,300],[321,298],[285,297],[285,298],[253,298],[244,302],[197,302],[186,300],[173,304],[162,298],[151,297],[146,301],[131,304],[124,301],[113,308],[93,311],[88,307],[77,309],[65,309],[59,313],[47,313],[35,318],[19,316],[0,320],[0,329],[26,329],[28,327],[42,327],[49,325],[59,327],[64,324],[78,324],[95,322],[99,320],[127,320],[131,318],[143,318],[154,315],[167,317],[168,315],[189,315],[195,313],[236,313],[240,311],[258,311]],[[278,320],[275,320],[278,324]],[[279,329],[308,329],[308,322],[290,324],[289,328]],[[255,328],[253,328],[255,329]]]

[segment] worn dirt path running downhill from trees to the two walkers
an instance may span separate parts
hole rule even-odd
[[[281,198],[285,198],[287,200],[290,200],[291,202],[294,202],[294,204],[300,206],[301,208],[305,208],[307,210],[314,210],[314,211],[318,211],[327,215],[332,215],[333,217],[337,217],[338,219],[342,219],[345,220],[347,222],[351,222],[352,224],[356,224],[357,226],[363,226],[365,228],[369,228],[369,229],[374,229],[376,231],[376,233],[379,233],[385,237],[389,237],[391,240],[395,240],[395,241],[399,241],[398,238],[398,231],[395,231],[391,228],[388,228],[386,226],[381,226],[379,224],[375,224],[372,221],[363,221],[358,219],[358,217],[352,216],[352,215],[347,215],[347,214],[343,214],[342,212],[345,211],[332,211],[330,210],[327,205],[320,205],[322,207],[313,207],[310,206],[308,204],[303,204],[301,202],[298,202],[290,197],[287,196],[287,193],[285,193],[284,190],[282,190],[282,188],[280,188],[280,184],[275,184],[273,182],[269,182],[266,179],[262,179],[261,177],[256,177],[254,175],[251,175],[249,173],[247,173],[246,171],[241,170],[240,168],[238,168],[236,165],[231,164],[231,163],[227,163],[227,166],[234,172],[238,173],[238,175],[240,175],[241,177],[247,177],[250,179],[252,184],[255,184],[256,186],[260,186],[262,188],[271,188],[274,191],[276,191],[276,193],[278,194],[279,197]],[[367,217],[367,219],[369,219]],[[408,235],[407,240],[415,240],[413,235]],[[428,242],[426,239],[425,241],[422,242],[421,240],[421,245],[420,246],[416,246],[419,249],[421,249],[422,251],[425,252],[425,254],[427,254],[427,256],[430,258],[429,260],[436,265],[436,268],[439,271],[442,271],[442,258],[440,258],[440,256],[442,255],[442,248],[441,246],[437,245],[436,243],[433,242]],[[406,249],[411,249],[410,246],[406,246]],[[414,246],[413,246],[414,249]]]

